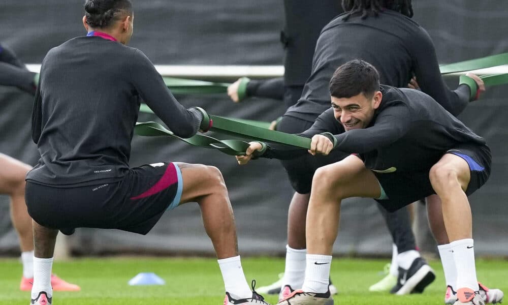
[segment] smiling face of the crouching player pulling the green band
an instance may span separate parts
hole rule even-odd
[[[350,98],[332,96],[331,99],[335,119],[348,131],[369,126],[374,117],[374,111],[383,99],[383,94],[376,91],[372,97],[366,97],[363,93],[360,93]]]

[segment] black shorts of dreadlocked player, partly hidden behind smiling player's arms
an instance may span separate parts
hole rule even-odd
[[[297,134],[306,131],[313,124],[313,122],[284,115],[277,125],[277,131]],[[288,173],[293,189],[300,194],[308,194],[312,187],[312,177],[316,169],[338,162],[349,155],[339,150],[332,150],[328,156],[307,154],[291,160],[281,160],[280,162]]]

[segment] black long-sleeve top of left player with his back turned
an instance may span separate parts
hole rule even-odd
[[[43,60],[32,117],[41,159],[26,179],[65,187],[119,180],[129,170],[140,99],[180,137],[202,115],[180,105],[138,49],[78,37]]]

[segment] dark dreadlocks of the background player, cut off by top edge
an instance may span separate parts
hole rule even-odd
[[[347,20],[357,13],[362,13],[362,19],[371,13],[377,16],[385,9],[399,12],[409,18],[413,16],[411,0],[342,0],[342,8],[347,12],[342,20]]]

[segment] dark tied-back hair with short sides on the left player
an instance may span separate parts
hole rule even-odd
[[[105,28],[125,15],[132,16],[130,0],[86,0],[86,24]]]

